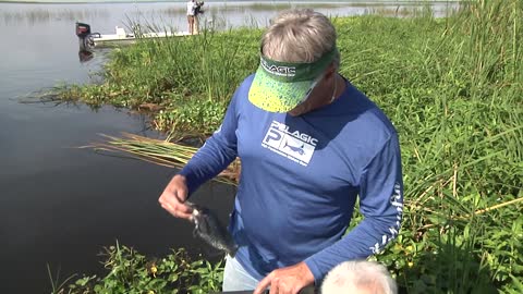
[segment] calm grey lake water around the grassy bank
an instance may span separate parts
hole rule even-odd
[[[374,1],[376,2],[376,1]],[[265,26],[271,2],[206,1],[203,23],[226,28]],[[295,5],[288,2],[288,5]],[[158,205],[175,172],[151,163],[77,148],[101,142],[99,134],[129,132],[161,137],[147,118],[105,107],[42,103],[34,96],[60,84],[89,83],[108,49],[80,62],[74,22],[112,34],[130,21],[186,30],[184,2],[89,4],[0,3],[0,293],[50,293],[46,265],[62,280],[72,273],[104,273],[102,246],[133,246],[147,256],[186,247],[208,256],[192,226]],[[332,2],[329,15],[412,9],[408,1]],[[454,4],[433,3],[436,15]],[[211,22],[210,22],[211,21]],[[234,188],[207,184],[194,195],[227,220]]]

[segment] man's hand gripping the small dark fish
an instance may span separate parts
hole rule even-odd
[[[167,184],[158,201],[172,216],[191,220],[193,209],[184,204],[187,199],[187,191],[185,176],[177,174]]]

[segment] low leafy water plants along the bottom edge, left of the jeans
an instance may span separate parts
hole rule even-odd
[[[104,247],[100,256],[108,274],[84,275],[72,283],[68,279],[53,294],[90,293],[210,293],[221,287],[222,260],[209,261],[191,258],[183,248],[172,249],[161,258],[147,258],[136,249],[118,242]],[[51,279],[53,281],[54,279]]]

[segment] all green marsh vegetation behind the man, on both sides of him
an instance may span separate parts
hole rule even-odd
[[[478,0],[448,19],[426,11],[332,21],[341,73],[400,134],[404,223],[375,258],[409,293],[521,293],[523,1]],[[205,32],[118,49],[101,85],[73,86],[62,98],[156,103],[159,130],[205,137],[255,71],[260,35]]]

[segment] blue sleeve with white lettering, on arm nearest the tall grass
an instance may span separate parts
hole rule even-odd
[[[394,133],[362,171],[360,211],[364,220],[305,264],[319,283],[335,266],[379,253],[400,230],[403,215],[401,154]]]

